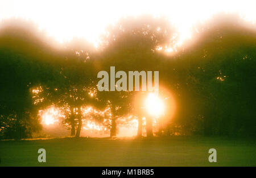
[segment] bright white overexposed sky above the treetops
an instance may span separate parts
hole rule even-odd
[[[0,19],[11,16],[32,19],[59,42],[79,36],[95,44],[107,24],[125,15],[167,15],[187,38],[193,23],[220,11],[239,13],[242,18],[255,22],[255,8],[255,0],[1,0]]]

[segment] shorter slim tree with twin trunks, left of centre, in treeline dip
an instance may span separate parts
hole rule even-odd
[[[82,127],[81,107],[94,102],[93,72],[89,53],[72,45],[64,53],[65,60],[61,63],[60,76],[57,90],[59,94],[59,106],[67,106],[69,109],[67,122],[71,125],[71,136],[79,137]],[[78,49],[77,49],[78,48]],[[75,129],[77,123],[77,130]],[[76,134],[75,134],[76,130]]]

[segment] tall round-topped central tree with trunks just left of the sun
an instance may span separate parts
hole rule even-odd
[[[125,18],[119,20],[114,26],[106,30],[106,36],[102,37],[99,60],[94,68],[106,70],[114,66],[121,71],[159,71],[159,66],[164,62],[163,53],[158,53],[159,48],[163,51],[167,48],[175,48],[176,34],[174,27],[166,18],[153,18],[152,16],[140,16],[138,18]],[[99,67],[100,66],[100,67]],[[114,92],[109,92],[113,95]],[[114,94],[115,95],[115,94]],[[133,109],[130,113],[137,115],[138,136],[142,133],[142,110],[138,103],[139,94],[130,94],[130,104]],[[136,98],[134,98],[136,97]],[[120,98],[120,97],[117,97]],[[142,99],[143,100],[143,99]],[[133,104],[137,105],[133,105]],[[127,104],[128,105],[128,104]],[[134,107],[135,106],[135,107]],[[137,113],[134,113],[137,111]],[[152,135],[152,119],[147,117],[148,133]],[[150,131],[151,130],[151,131]]]

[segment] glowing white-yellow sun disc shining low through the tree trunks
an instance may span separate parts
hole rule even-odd
[[[147,113],[153,117],[159,117],[164,114],[164,102],[156,93],[148,93],[144,106]]]

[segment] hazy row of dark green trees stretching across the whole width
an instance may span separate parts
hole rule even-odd
[[[198,25],[193,39],[180,46],[166,18],[121,19],[106,29],[97,50],[82,39],[56,47],[30,22],[2,22],[0,138],[31,137],[41,128],[38,111],[49,105],[63,108],[63,124],[72,136],[80,135],[86,119],[115,136],[129,122],[127,115],[138,119],[141,136],[145,93],[97,90],[97,73],[110,66],[125,72],[159,71],[159,94],[174,97],[175,114],[167,107],[158,131],[146,117],[147,136],[255,137],[256,33],[237,18],[219,19]],[[85,106],[107,111],[84,115]]]

